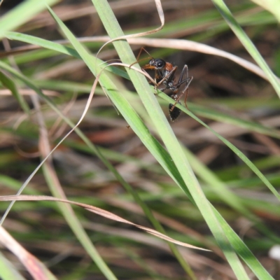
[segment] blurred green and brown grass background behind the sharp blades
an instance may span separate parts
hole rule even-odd
[[[13,9],[16,2],[4,0],[1,15]],[[109,3],[125,34],[160,26],[154,1]],[[277,19],[251,1],[227,1],[227,4],[272,71],[279,76]],[[64,0],[52,8],[77,38],[106,36],[91,1]],[[163,0],[162,8],[165,27],[147,38],[187,39],[255,63],[211,1]],[[48,41],[66,39],[46,10],[15,31]],[[83,45],[94,55],[104,43],[98,38],[85,38],[84,41]],[[141,46],[132,45],[136,56]],[[32,80],[52,99],[59,111],[77,123],[94,82],[94,76],[83,60],[46,48],[31,50],[29,44],[7,38],[3,38],[0,48],[1,62]],[[193,76],[188,90],[190,111],[239,148],[277,190],[280,183],[280,102],[272,85],[223,57],[174,50],[168,41],[160,48],[148,45],[145,48],[152,57],[178,66],[177,75],[183,65],[188,64],[189,75]],[[99,58],[112,62],[118,59],[118,55],[109,44],[100,52]],[[149,57],[143,53],[141,59],[140,64],[144,65]],[[153,72],[149,73],[153,76]],[[43,99],[37,100],[39,107],[36,108],[34,90],[22,81],[6,71],[0,78],[0,190],[1,195],[14,195],[46,155],[39,147],[41,117],[38,117],[38,108],[51,148],[70,128]],[[118,75],[112,79],[118,85],[119,94],[131,102],[151,133],[158,137],[130,80]],[[161,97],[158,97],[158,102],[169,118],[169,102]],[[274,244],[279,244],[279,200],[228,146],[186,113],[182,112],[171,125],[177,139],[188,148],[186,153],[190,153],[189,160],[191,164],[193,162],[207,199],[265,269],[274,279],[279,279],[279,262],[268,254]],[[95,90],[79,128],[153,211],[169,237],[214,251],[209,253],[178,247],[189,265],[188,270],[175,258],[165,241],[130,225],[75,207],[78,220],[116,278],[236,279],[200,211],[162,169],[134,130],[128,127],[101,87]],[[133,223],[153,228],[139,202],[76,133],[67,137],[53,153],[52,165],[69,200],[94,205]],[[228,191],[234,197],[234,205],[227,200]],[[53,195],[53,192],[48,185],[48,175],[42,169],[24,191],[33,195]],[[0,207],[3,214],[8,202],[1,202]],[[27,251],[45,262],[58,279],[109,279],[87,255],[55,202],[17,202],[3,226]],[[6,250],[3,253],[15,267],[21,267],[11,253]],[[248,267],[246,271],[250,279],[256,279]],[[30,279],[27,272],[21,273]]]

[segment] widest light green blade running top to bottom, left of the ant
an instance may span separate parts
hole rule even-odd
[[[108,32],[111,38],[117,38],[119,36],[123,36],[123,31],[120,29],[118,22],[113,15],[113,12],[106,1],[94,1],[95,8],[97,9],[97,13],[101,18],[106,31]],[[120,59],[126,64],[132,64],[135,60],[132,50],[130,46],[125,41],[118,41],[113,43],[114,47],[116,48]],[[214,236],[216,237],[216,241],[223,249],[230,265],[232,266],[235,274],[239,279],[248,279],[244,268],[241,265],[241,262],[237,258],[237,255],[232,250],[228,239],[225,237],[224,232],[221,228],[221,225],[218,223],[214,212],[212,211],[209,202],[207,201],[204,193],[202,192],[200,185],[193,174],[193,170],[190,168],[188,160],[183,154],[179,142],[177,141],[174,133],[172,132],[171,127],[167,123],[165,116],[156,101],[154,94],[151,94],[149,90],[149,86],[147,81],[144,79],[143,76],[139,75],[138,73],[134,73],[132,71],[128,71],[132,83],[134,87],[137,89],[139,96],[148,111],[148,114],[153,120],[153,124],[155,125],[156,129],[158,130],[158,134],[162,138],[162,141],[165,143],[167,150],[169,151],[170,155],[172,155],[172,159],[176,167],[179,169],[179,172],[185,181],[186,185],[188,185],[188,189],[192,194],[197,207],[199,207],[202,215],[207,221],[211,232],[213,232]]]

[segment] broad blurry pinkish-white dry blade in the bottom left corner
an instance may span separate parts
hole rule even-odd
[[[50,280],[57,279],[43,263],[31,255],[23,248],[18,241],[16,241],[10,234],[0,226],[0,243],[8,248],[14,255],[16,255],[22,265],[25,266],[27,271],[31,274],[35,280]]]

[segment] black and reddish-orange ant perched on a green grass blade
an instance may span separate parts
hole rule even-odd
[[[139,55],[137,56],[137,62],[139,62],[139,56],[141,55],[142,51],[147,52],[143,47],[141,48]],[[148,53],[148,52],[147,52]],[[148,55],[150,55],[148,53]],[[169,62],[166,62],[163,59],[160,58],[153,58],[153,57],[149,57],[151,58],[150,62],[146,65],[144,65],[143,67],[141,67],[142,70],[146,70],[146,69],[151,69],[151,70],[155,70],[155,81],[157,84],[155,84],[155,88],[158,87],[159,85],[163,84],[165,87],[160,89],[162,92],[164,92],[165,90],[171,90],[172,94],[171,94],[171,98],[174,99],[175,103],[174,104],[169,104],[169,116],[170,116],[170,120],[172,122],[174,122],[174,120],[176,120],[177,118],[179,118],[181,110],[179,108],[176,107],[176,104],[180,102],[181,97],[183,96],[183,94],[186,93],[186,97],[184,100],[184,103],[186,105],[186,108],[188,108],[186,102],[187,102],[187,97],[188,97],[188,87],[190,85],[190,82],[193,80],[193,77],[188,78],[188,66],[185,65],[183,66],[183,70],[180,74],[179,80],[178,82],[176,82],[175,80],[175,72],[178,69],[178,66],[174,66]],[[137,63],[135,62],[135,63]],[[186,76],[186,78],[184,78],[184,76]],[[179,92],[179,88],[181,87],[181,85],[183,85],[183,83],[186,83],[186,86],[184,87],[183,91]]]

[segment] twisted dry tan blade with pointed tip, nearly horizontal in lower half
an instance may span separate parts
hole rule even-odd
[[[144,231],[150,233],[151,235],[155,235],[156,237],[159,237],[160,239],[167,240],[167,241],[172,242],[174,244],[181,245],[181,246],[188,247],[188,248],[194,248],[194,249],[197,249],[197,250],[210,251],[210,250],[207,250],[207,249],[204,249],[204,248],[199,248],[197,246],[193,246],[193,245],[190,245],[190,244],[172,239],[171,237],[167,237],[167,235],[163,235],[162,233],[160,233],[156,230],[152,230],[151,228],[146,228],[142,225],[137,225],[136,223],[132,223],[130,221],[127,221],[124,218],[121,218],[120,216],[112,214],[109,211],[106,211],[104,209],[100,209],[98,207],[94,207],[94,206],[88,205],[88,204],[73,202],[73,201],[70,201],[70,200],[63,200],[63,199],[59,199],[59,198],[56,198],[56,197],[48,197],[48,196],[44,196],[44,195],[8,195],[8,196],[0,197],[0,201],[54,201],[54,202],[69,203],[69,204],[76,205],[78,207],[82,207],[82,208],[86,209],[87,211],[91,211],[91,212],[93,212],[97,215],[103,216],[105,218],[109,218],[113,221],[118,221],[120,223],[126,223],[126,224],[129,224],[129,225],[133,225],[134,227],[139,228],[141,230],[144,230]]]

